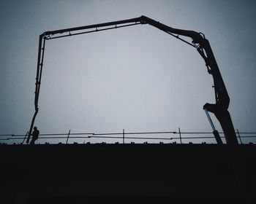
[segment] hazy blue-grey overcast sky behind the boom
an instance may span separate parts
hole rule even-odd
[[[39,34],[141,15],[206,35],[235,129],[255,132],[255,1],[10,0],[0,7],[0,134],[29,130]],[[215,102],[212,85],[193,47],[152,26],[54,39],[46,42],[35,125],[40,133],[211,132],[203,105]],[[102,140],[78,142],[87,141]]]

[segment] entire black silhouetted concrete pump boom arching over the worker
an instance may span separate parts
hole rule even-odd
[[[219,120],[220,125],[222,126],[223,133],[225,134],[225,139],[227,144],[238,144],[238,140],[236,138],[236,133],[233,127],[233,122],[230,117],[230,113],[227,110],[230,98],[227,94],[227,90],[225,84],[222,79],[222,75],[220,74],[219,67],[217,65],[217,61],[214,58],[214,53],[211,50],[211,46],[205,36],[201,33],[197,33],[195,31],[187,31],[176,28],[171,28],[162,23],[157,22],[156,20],[152,20],[149,17],[141,16],[128,20],[118,20],[109,23],[99,23],[90,26],[81,26],[76,28],[66,28],[56,31],[46,31],[45,33],[39,36],[39,50],[38,50],[38,59],[37,59],[37,77],[36,77],[36,88],[35,88],[35,98],[34,98],[34,117],[31,121],[31,126],[29,129],[29,136],[27,138],[27,143],[29,143],[29,138],[31,136],[31,131],[34,126],[34,120],[37,117],[38,113],[38,99],[39,99],[39,90],[42,79],[42,66],[43,66],[43,58],[45,52],[45,40],[48,39],[56,39],[62,38],[66,36],[75,36],[80,34],[88,34],[97,31],[105,31],[115,28],[123,28],[127,26],[135,26],[138,24],[149,24],[160,30],[164,31],[171,36],[175,36],[177,39],[180,39],[183,42],[195,47],[197,51],[202,56],[203,60],[206,62],[206,67],[208,69],[208,73],[213,76],[214,79],[214,92],[215,92],[215,104],[206,103],[203,106],[203,109],[214,113],[214,115]],[[94,29],[94,30],[92,30]],[[181,39],[179,36],[187,36],[192,39],[192,43]],[[219,138],[219,134],[214,134],[217,139],[218,144],[222,144],[221,139]]]

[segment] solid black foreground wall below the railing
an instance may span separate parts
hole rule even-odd
[[[255,203],[256,146],[1,145],[0,203]]]

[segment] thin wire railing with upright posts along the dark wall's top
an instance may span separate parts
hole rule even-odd
[[[219,133],[222,140],[225,141],[223,133]],[[151,135],[154,135],[152,137]],[[239,144],[255,144],[256,143],[256,132],[236,132]],[[25,144],[26,135],[15,135],[5,134],[0,135],[0,144]],[[103,141],[102,141],[103,139]],[[69,144],[69,141],[74,143],[174,143],[174,144],[191,144],[191,143],[202,143],[202,144],[215,144],[216,140],[213,133],[210,132],[181,132],[180,128],[178,131],[163,131],[163,132],[125,132],[122,133],[48,133],[39,134],[37,144]]]

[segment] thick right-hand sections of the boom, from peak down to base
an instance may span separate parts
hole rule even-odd
[[[187,36],[192,39],[192,44],[197,48],[197,51],[203,57],[206,62],[206,67],[208,68],[208,73],[211,74],[214,78],[214,91],[216,104],[206,103],[203,108],[211,111],[215,114],[219,120],[220,125],[222,126],[223,132],[225,133],[225,138],[227,144],[238,144],[236,133],[233,127],[233,122],[230,117],[229,111],[227,111],[230,98],[227,94],[227,89],[220,74],[217,61],[214,58],[214,53],[211,50],[211,46],[205,36],[201,33],[195,31],[186,31],[176,28],[171,28],[165,26],[162,23],[159,23],[151,18],[142,16],[142,23],[148,23],[151,26],[159,28],[162,31],[165,31],[167,34],[176,34],[176,38],[180,39],[179,36]],[[182,40],[182,39],[181,39]],[[184,40],[183,40],[184,41]],[[187,42],[188,43],[188,42]],[[189,43],[188,43],[189,44]],[[192,45],[190,44],[190,45]]]

